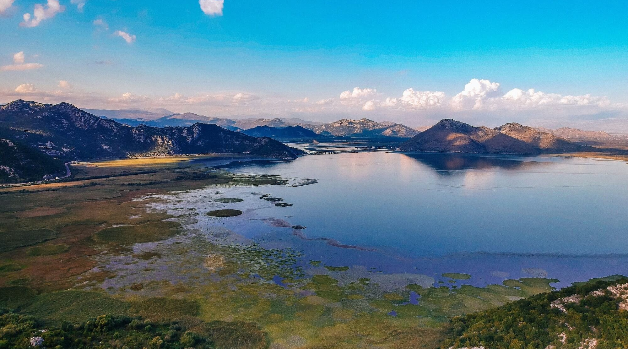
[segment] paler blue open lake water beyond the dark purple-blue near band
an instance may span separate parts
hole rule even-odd
[[[237,171],[313,178],[272,186],[308,237],[452,252],[628,253],[628,164],[591,158],[349,153]]]

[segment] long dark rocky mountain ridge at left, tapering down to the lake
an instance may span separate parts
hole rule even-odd
[[[301,151],[270,138],[228,131],[214,124],[189,127],[126,126],[72,104],[15,100],[0,107],[0,135],[60,159],[113,156],[242,153],[296,158]]]

